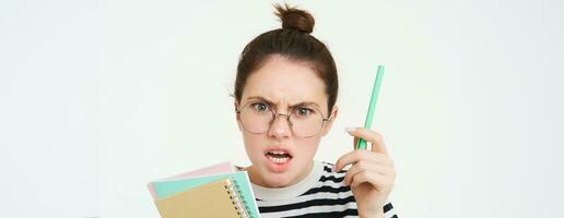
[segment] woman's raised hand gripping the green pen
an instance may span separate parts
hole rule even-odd
[[[344,177],[345,185],[350,185],[359,206],[359,215],[363,218],[384,217],[384,205],[393,187],[396,170],[388,156],[380,134],[372,130],[356,128],[348,130],[354,136],[354,147],[359,138],[372,144],[371,150],[355,149],[343,155],[334,165],[333,171],[340,171],[353,165]]]

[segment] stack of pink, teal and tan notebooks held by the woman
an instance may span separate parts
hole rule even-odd
[[[259,218],[247,172],[223,162],[148,184],[163,218]]]

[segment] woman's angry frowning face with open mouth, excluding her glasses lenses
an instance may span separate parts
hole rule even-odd
[[[235,104],[240,109],[247,102],[251,102],[254,110],[271,110],[275,114],[292,114],[294,111],[296,114],[320,112],[324,118],[330,116],[327,112],[324,82],[306,64],[280,56],[269,58],[262,68],[247,78],[240,102]],[[243,133],[245,149],[252,162],[247,169],[252,182],[281,187],[305,178],[313,167],[319,141],[331,128],[336,116],[337,107],[333,107],[331,119],[324,123],[320,131],[303,137],[295,134],[286,117],[277,116],[265,133],[251,133],[243,126],[238,114],[237,123]]]

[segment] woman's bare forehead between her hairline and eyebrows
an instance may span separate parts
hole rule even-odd
[[[327,107],[325,84],[316,72],[305,63],[279,56],[269,58],[247,78],[242,100],[246,101],[249,96],[260,96],[274,104],[313,101]]]

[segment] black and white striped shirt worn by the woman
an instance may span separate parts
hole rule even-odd
[[[252,184],[262,218],[270,217],[359,217],[356,202],[343,184],[346,170],[332,172],[332,164],[315,161],[312,172],[298,183],[269,189]],[[384,217],[397,218],[391,203]]]

